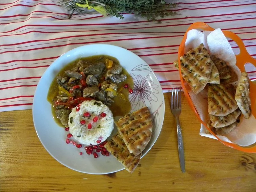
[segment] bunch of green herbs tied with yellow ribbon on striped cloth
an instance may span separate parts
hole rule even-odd
[[[58,4],[72,11],[69,18],[74,12],[86,14],[91,9],[100,10],[98,12],[103,15],[107,13],[120,19],[124,19],[123,13],[146,17],[148,20],[176,14],[176,12],[168,10],[170,7],[175,7],[176,4],[166,4],[164,0],[60,0]]]

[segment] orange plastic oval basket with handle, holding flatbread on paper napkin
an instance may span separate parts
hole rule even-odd
[[[179,47],[178,58],[180,58],[180,56],[185,54],[184,49],[185,49],[185,42],[186,42],[186,39],[187,39],[187,33],[191,29],[199,29],[199,30],[201,29],[201,30],[204,30],[204,31],[213,31],[214,30],[214,28],[211,28],[206,23],[203,23],[203,22],[193,23],[187,29],[187,31],[186,31],[186,33],[185,33],[185,35],[184,35],[184,37],[181,41],[181,44],[180,44],[180,47]],[[226,37],[235,41],[236,44],[239,46],[240,53],[238,55],[236,55],[236,65],[241,70],[241,72],[245,71],[245,68],[244,68],[245,63],[252,63],[256,67],[256,60],[254,58],[252,58],[252,56],[250,56],[250,54],[246,51],[246,48],[244,46],[243,41],[236,34],[230,32],[230,31],[222,31],[222,32]],[[180,60],[179,60],[179,68],[180,68]],[[193,104],[193,101],[191,100],[191,98],[188,94],[188,90],[187,90],[186,86],[184,85],[184,81],[183,81],[183,78],[181,76],[181,71],[180,71],[180,80],[181,80],[181,85],[182,85],[185,97],[188,100],[190,108],[194,111],[194,113],[195,113],[196,117],[199,119],[199,121],[209,130],[209,132],[212,133],[212,135],[214,135],[214,137],[216,137],[221,143],[223,143],[224,145],[226,145],[228,147],[235,148],[237,150],[244,151],[244,152],[247,152],[247,153],[256,153],[256,145],[255,144],[250,146],[250,147],[241,147],[239,145],[223,141],[217,135],[215,135],[212,132],[212,130],[209,127],[207,127],[207,125],[199,117],[199,114],[198,114],[198,112],[197,112],[197,110],[196,110],[196,108]],[[251,81],[250,81],[250,98],[251,98],[252,115],[254,117],[256,117],[256,84],[253,84]]]

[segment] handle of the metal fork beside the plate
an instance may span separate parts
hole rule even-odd
[[[181,168],[181,171],[184,173],[185,172],[185,156],[184,156],[184,146],[183,146],[183,139],[182,139],[182,133],[181,133],[181,128],[180,128],[179,117],[176,117],[176,121],[177,121],[177,135],[178,135],[180,168]]]

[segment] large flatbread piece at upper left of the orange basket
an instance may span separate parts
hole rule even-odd
[[[201,92],[208,83],[212,71],[212,60],[204,44],[181,56],[180,62],[184,80],[195,94]]]

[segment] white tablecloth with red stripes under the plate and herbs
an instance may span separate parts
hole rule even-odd
[[[174,1],[179,15],[161,19],[161,24],[127,14],[124,20],[99,13],[68,19],[69,12],[57,1],[0,1],[0,111],[32,108],[46,68],[84,44],[113,44],[139,55],[156,73],[163,92],[180,84],[172,62],[186,29],[196,21],[235,32],[256,58],[256,0]],[[237,51],[237,45],[231,45]],[[256,68],[247,70],[256,79]]]

